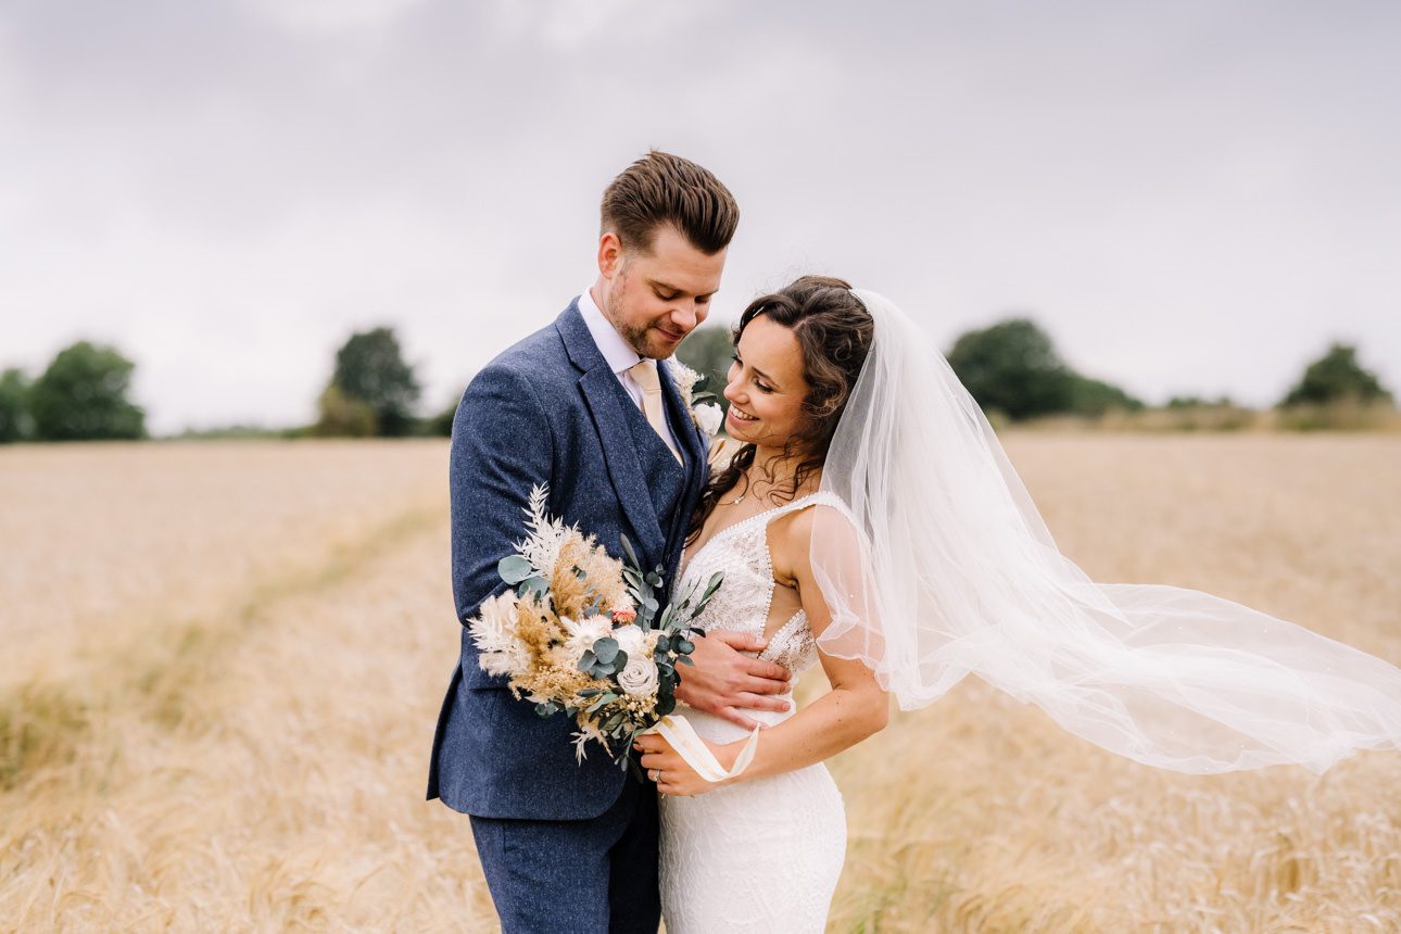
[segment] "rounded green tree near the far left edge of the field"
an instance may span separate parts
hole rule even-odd
[[[113,347],[64,347],[29,389],[35,437],[98,441],[146,437],[146,413],[127,399],[136,364]]]

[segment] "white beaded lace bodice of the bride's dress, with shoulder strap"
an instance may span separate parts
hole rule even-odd
[[[841,500],[831,493],[813,493],[764,513],[741,520],[715,534],[700,546],[681,571],[681,587],[695,583],[705,587],[716,571],[724,583],[705,611],[696,618],[702,629],[729,629],[764,636],[769,609],[773,604],[773,556],[769,553],[769,522],[810,506],[835,506]],[[769,639],[759,658],[773,661],[797,676],[817,661],[817,641],[808,626],[807,613],[797,611]]]

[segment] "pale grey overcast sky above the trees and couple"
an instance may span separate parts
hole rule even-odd
[[[437,409],[656,146],[740,202],[716,318],[815,270],[1150,402],[1332,339],[1401,391],[1398,101],[1384,0],[0,0],[0,367],[106,340],[154,431],[287,424],[388,323]]]

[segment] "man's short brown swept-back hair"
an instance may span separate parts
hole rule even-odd
[[[625,249],[651,251],[663,224],[713,256],[730,245],[740,206],[715,175],[691,160],[651,150],[629,165],[604,192],[598,235],[618,235]]]

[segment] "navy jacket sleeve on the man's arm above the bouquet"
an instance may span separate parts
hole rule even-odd
[[[462,393],[453,419],[448,492],[453,599],[464,625],[506,590],[497,563],[525,536],[531,489],[549,483],[549,417],[524,374],[488,367]]]

